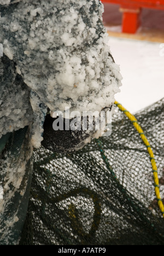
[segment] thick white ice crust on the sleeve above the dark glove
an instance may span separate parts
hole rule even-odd
[[[102,13],[99,0],[22,0],[2,9],[4,54],[50,110],[101,111],[120,91],[120,69],[110,54]],[[15,111],[17,117],[22,113]],[[40,135],[37,147],[41,140]]]

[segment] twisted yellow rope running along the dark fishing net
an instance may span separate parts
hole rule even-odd
[[[114,103],[115,103],[116,106],[118,106],[118,108],[122,112],[125,113],[125,115],[128,117],[128,119],[130,119],[132,121],[134,127],[138,131],[140,137],[142,138],[145,146],[148,149],[148,153],[150,155],[151,165],[153,167],[155,194],[156,194],[156,198],[157,198],[160,210],[161,210],[163,218],[164,218],[164,205],[163,205],[163,202],[162,202],[162,199],[161,199],[161,196],[160,196],[159,178],[158,178],[157,166],[156,166],[156,162],[155,162],[155,159],[154,159],[153,150],[151,149],[151,146],[150,146],[150,144],[148,142],[147,137],[144,135],[144,132],[143,132],[142,128],[138,124],[137,119],[130,112],[128,112],[128,110],[126,108],[124,108],[119,102],[115,101]]]

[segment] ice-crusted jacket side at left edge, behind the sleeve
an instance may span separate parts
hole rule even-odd
[[[30,88],[16,74],[14,63],[7,57],[0,59],[0,138],[24,128],[33,119]]]

